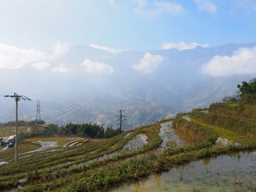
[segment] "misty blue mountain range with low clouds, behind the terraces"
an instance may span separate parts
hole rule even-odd
[[[15,50],[17,55],[10,57],[21,64],[1,67],[0,95],[17,92],[34,100],[20,105],[20,119],[34,118],[40,99],[41,116],[48,123],[117,126],[117,110],[122,108],[126,128],[132,128],[232,95],[255,72],[237,73],[241,66],[228,65],[256,61],[254,47],[256,42],[145,52],[92,45],[66,46],[64,51],[59,45],[53,53]],[[14,101],[2,97],[0,106],[0,121],[13,120]]]

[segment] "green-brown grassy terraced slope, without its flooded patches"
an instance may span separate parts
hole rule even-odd
[[[246,112],[231,112],[233,108],[230,108],[230,105],[227,105],[227,108],[221,107],[211,108],[208,114],[193,111],[189,114],[191,122],[184,120],[182,115],[173,120],[176,134],[189,143],[188,146],[169,147],[161,153],[155,153],[162,142],[158,136],[160,124],[155,123],[136,128],[129,137],[124,137],[127,134],[124,132],[105,141],[89,142],[83,147],[71,147],[53,153],[42,153],[24,158],[17,165],[0,166],[0,189],[15,188],[18,186],[18,179],[26,177],[28,180],[22,183],[24,187],[19,191],[105,191],[117,183],[138,180],[152,172],[161,172],[199,158],[254,149],[255,122],[252,116],[248,117]],[[222,112],[219,112],[220,110]],[[231,127],[237,122],[239,126]],[[120,151],[129,139],[137,134],[148,136],[148,145],[142,149],[121,153],[104,161],[74,166]],[[214,145],[217,137],[239,142],[240,145]],[[138,154],[144,155],[137,156]]]

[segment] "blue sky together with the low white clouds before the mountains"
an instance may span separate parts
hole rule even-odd
[[[130,67],[151,74],[167,59],[150,50],[256,42],[255,20],[256,0],[0,0],[0,72],[29,66],[48,74],[115,74],[88,55],[72,67],[56,64],[70,47],[88,45],[113,55],[142,50]],[[256,74],[255,64],[256,47],[244,47],[215,55],[200,72]]]

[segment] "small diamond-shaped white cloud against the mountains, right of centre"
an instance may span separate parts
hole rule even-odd
[[[137,71],[150,73],[164,60],[165,58],[162,58],[161,55],[151,55],[150,53],[145,53],[143,58],[140,58],[138,64],[134,64],[132,67]]]

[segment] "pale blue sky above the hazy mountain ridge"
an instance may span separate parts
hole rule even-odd
[[[0,43],[116,50],[256,41],[255,0],[0,0]]]

